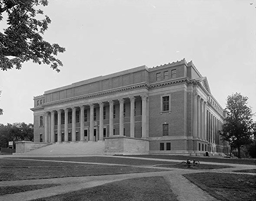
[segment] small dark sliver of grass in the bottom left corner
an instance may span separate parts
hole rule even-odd
[[[33,191],[43,188],[50,188],[60,184],[40,184],[40,185],[23,185],[23,186],[1,186],[0,195],[19,193],[24,191]]]

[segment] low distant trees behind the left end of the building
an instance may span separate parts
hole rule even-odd
[[[0,147],[8,147],[10,141],[33,141],[34,126],[32,123],[0,124]]]

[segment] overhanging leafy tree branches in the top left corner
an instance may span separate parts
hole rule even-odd
[[[43,15],[38,6],[47,6],[47,0],[0,0],[0,21],[2,13],[7,14],[7,29],[0,32],[0,69],[8,70],[14,66],[22,67],[23,62],[47,64],[57,72],[62,62],[56,58],[65,48],[43,40],[42,35],[48,29],[51,20]]]

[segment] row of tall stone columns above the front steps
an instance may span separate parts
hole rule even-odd
[[[135,97],[129,97],[130,100],[130,137],[135,137],[135,118],[134,118],[134,102],[135,102]],[[149,98],[147,95],[141,95],[141,100],[142,100],[142,137],[141,138],[148,138],[148,102]],[[110,106],[110,116],[109,116],[109,136],[113,136],[113,105],[114,101],[109,100],[107,101],[109,106]],[[119,105],[120,105],[120,115],[119,115],[119,136],[124,136],[123,133],[123,104],[124,104],[124,99],[119,98],[118,99]],[[94,120],[93,120],[93,109],[96,107],[96,105],[99,105],[100,107],[100,125],[99,125],[99,141],[103,141],[103,107],[106,104],[106,102],[98,102],[95,104],[90,104],[90,138],[89,142],[94,141],[93,140],[93,135],[94,135],[94,130],[92,129],[94,127]],[[80,105],[77,106],[80,109],[80,141],[84,141],[84,106],[85,105]],[[76,141],[76,108],[77,107],[71,107],[72,110],[72,142]],[[59,109],[57,110],[58,114],[58,120],[57,120],[57,142],[60,143],[62,141],[62,132],[61,132],[61,113],[64,110],[64,142],[68,142],[68,112],[70,110],[70,107],[64,108],[64,109]],[[50,139],[48,139],[48,118],[49,118],[49,113],[51,114],[50,118]],[[55,142],[55,133],[54,133],[54,116],[55,116],[56,110],[52,110],[50,112],[45,112],[44,114],[44,133],[45,133],[45,142]]]

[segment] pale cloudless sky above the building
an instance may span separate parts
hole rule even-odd
[[[256,112],[256,0],[51,0],[43,11],[52,20],[43,38],[66,48],[63,67],[0,71],[0,123],[33,123],[33,97],[44,91],[183,58],[223,108],[239,92]]]

